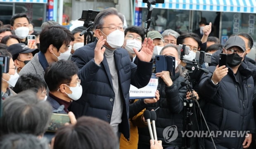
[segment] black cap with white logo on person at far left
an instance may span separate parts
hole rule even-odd
[[[33,55],[35,55],[36,53],[38,53],[38,49],[31,49],[28,48],[28,46],[26,44],[12,44],[10,45],[7,50],[12,54],[12,59],[16,60],[17,57],[19,56],[19,53],[32,53]]]

